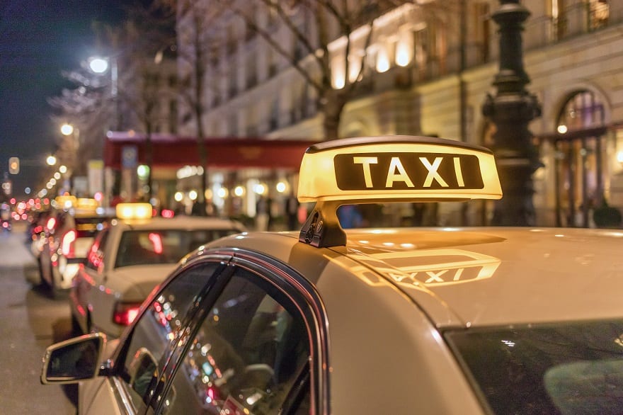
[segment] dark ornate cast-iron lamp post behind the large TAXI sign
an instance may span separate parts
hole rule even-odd
[[[496,96],[487,95],[482,113],[496,125],[493,153],[504,197],[493,210],[494,225],[532,226],[535,224],[535,193],[532,174],[542,166],[532,144],[528,123],[541,115],[537,97],[525,86],[530,78],[524,71],[522,23],[530,11],[519,0],[501,0],[492,14],[500,33],[500,71],[493,80]]]

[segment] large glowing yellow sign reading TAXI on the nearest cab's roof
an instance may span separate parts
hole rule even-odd
[[[436,137],[360,137],[315,144],[299,174],[301,202],[499,199],[493,153]]]

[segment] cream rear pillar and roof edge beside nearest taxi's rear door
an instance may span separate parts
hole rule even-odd
[[[416,407],[429,414],[481,411],[433,324],[391,280],[333,249],[316,249],[296,237],[293,232],[248,234],[212,242],[207,248],[220,254],[224,246],[261,250],[287,261],[314,282],[329,322],[333,413],[404,414]],[[408,319],[395,319],[406,315]],[[381,357],[382,362],[377,362]],[[373,370],[375,365],[382,369]],[[396,373],[401,372],[426,376],[396,382]],[[391,392],[384,390],[383,399],[353,402],[348,398],[351,390],[375,396],[379,385],[386,384],[393,386]]]

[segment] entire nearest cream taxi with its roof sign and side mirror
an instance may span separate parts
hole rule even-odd
[[[360,137],[304,154],[300,232],[185,256],[120,339],[47,348],[79,413],[615,414],[623,232],[343,229],[345,204],[501,198],[493,154]]]

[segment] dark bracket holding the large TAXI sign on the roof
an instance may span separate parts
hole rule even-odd
[[[299,242],[316,246],[316,248],[344,246],[346,233],[343,231],[337,215],[340,205],[343,203],[318,201],[301,228]]]

